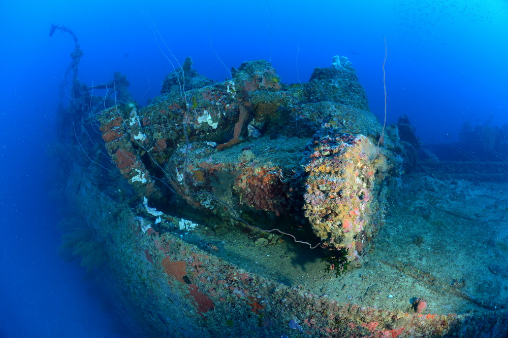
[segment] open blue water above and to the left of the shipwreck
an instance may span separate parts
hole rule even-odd
[[[67,33],[50,37],[51,23],[79,37],[82,83],[121,71],[141,105],[160,92],[169,61],[186,56],[218,81],[243,61],[268,59],[294,83],[340,55],[382,117],[385,36],[388,122],[407,114],[425,142],[456,140],[464,122],[508,123],[506,1],[2,1],[1,337],[128,336],[114,300],[57,255],[48,154],[74,42]]]

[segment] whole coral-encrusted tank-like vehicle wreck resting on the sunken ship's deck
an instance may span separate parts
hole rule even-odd
[[[103,110],[103,139],[120,173],[158,205],[168,199],[166,184],[200,212],[262,220],[248,224],[261,231],[277,217],[304,215],[324,247],[345,248],[361,264],[382,224],[397,160],[375,145],[381,127],[354,69],[316,68],[302,99],[264,60],[233,75],[192,88],[186,102],[166,95],[140,109],[131,102]],[[281,107],[292,107],[290,114]],[[247,126],[259,135],[248,138]]]

